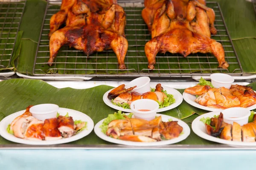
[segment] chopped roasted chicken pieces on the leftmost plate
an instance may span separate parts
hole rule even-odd
[[[26,108],[25,113],[17,116],[10,125],[10,130],[14,136],[28,140],[58,140],[62,137],[67,138],[76,134],[84,127],[84,122],[74,125],[73,118],[58,116],[57,118],[38,120]]]

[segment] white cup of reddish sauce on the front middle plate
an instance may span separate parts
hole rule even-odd
[[[139,99],[135,100],[130,105],[134,117],[137,119],[153,120],[157,115],[157,109],[159,104],[151,99]],[[150,111],[139,111],[139,110],[150,110]]]

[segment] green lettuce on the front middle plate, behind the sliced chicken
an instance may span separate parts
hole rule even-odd
[[[128,116],[128,118],[131,118],[133,114],[130,113]],[[102,122],[102,125],[99,126],[99,128],[102,129],[102,132],[104,134],[106,134],[107,129],[108,129],[108,124],[112,121],[112,120],[119,120],[119,119],[125,119],[125,113],[122,113],[122,111],[118,111],[117,113],[115,112],[114,114],[109,114],[108,117],[106,119],[104,119],[104,121]]]

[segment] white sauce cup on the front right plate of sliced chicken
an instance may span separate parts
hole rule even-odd
[[[232,125],[236,122],[241,126],[248,123],[250,116],[250,110],[247,108],[227,108],[221,113],[223,113],[224,122]]]

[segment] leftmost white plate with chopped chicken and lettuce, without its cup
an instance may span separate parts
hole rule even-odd
[[[93,130],[93,120],[79,111],[59,108],[55,118],[41,121],[32,116],[30,107],[0,122],[3,138],[21,144],[63,144],[81,139]]]

